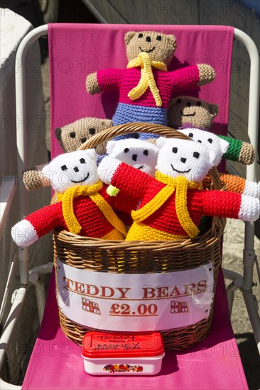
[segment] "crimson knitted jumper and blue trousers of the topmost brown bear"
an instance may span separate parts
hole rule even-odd
[[[148,88],[136,100],[131,100],[129,91],[139,84],[140,67],[134,69],[102,69],[97,72],[97,83],[101,91],[117,89],[119,104],[112,121],[114,126],[129,122],[158,123],[167,126],[167,109],[170,99],[180,90],[193,89],[200,82],[197,65],[191,65],[172,72],[152,69],[162,105],[156,106],[151,89]],[[144,137],[143,139],[150,138]]]

